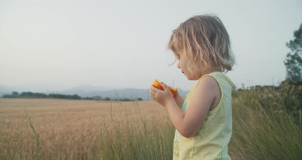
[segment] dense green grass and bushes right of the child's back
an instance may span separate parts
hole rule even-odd
[[[301,86],[233,93],[234,159],[302,159]],[[299,114],[297,114],[299,113]]]

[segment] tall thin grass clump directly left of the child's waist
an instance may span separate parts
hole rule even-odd
[[[133,104],[140,112],[138,102]],[[170,159],[174,128],[169,121],[153,121],[153,118],[140,114],[137,123],[129,122],[127,109],[124,121],[114,124],[111,133],[105,122],[100,127],[99,153],[102,159]],[[114,115],[112,115],[114,119]],[[168,120],[168,119],[167,119]],[[161,127],[160,127],[161,126]]]

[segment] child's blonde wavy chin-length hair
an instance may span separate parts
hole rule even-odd
[[[168,49],[183,56],[192,73],[208,68],[227,72],[236,63],[229,34],[214,14],[196,15],[181,23],[172,32]],[[173,64],[176,61],[177,57]],[[204,68],[200,67],[201,63]]]

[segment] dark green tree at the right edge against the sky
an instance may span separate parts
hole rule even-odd
[[[294,84],[302,84],[302,24],[294,31],[294,39],[286,43],[286,46],[291,50],[284,61],[286,79]]]

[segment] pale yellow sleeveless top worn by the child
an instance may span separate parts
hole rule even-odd
[[[218,82],[221,90],[220,102],[215,109],[208,112],[194,136],[186,138],[175,131],[173,159],[231,159],[228,155],[228,144],[232,135],[231,93],[235,86],[222,72],[212,72],[204,76],[211,76]],[[185,98],[182,106],[184,113],[200,79]]]

